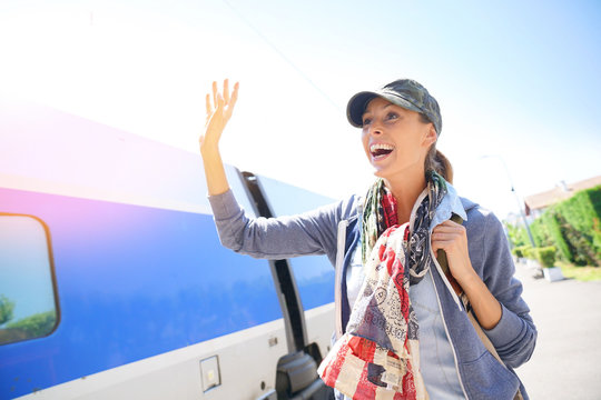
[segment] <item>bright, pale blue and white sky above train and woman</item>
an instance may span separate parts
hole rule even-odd
[[[599,1],[4,0],[0,53],[3,94],[191,152],[211,81],[239,81],[226,162],[332,198],[373,180],[346,102],[397,78],[500,218],[601,174]]]

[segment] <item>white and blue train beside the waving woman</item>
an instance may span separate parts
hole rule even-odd
[[[0,99],[0,399],[327,399],[325,256],[221,247],[199,154]],[[333,199],[227,164],[253,217]]]

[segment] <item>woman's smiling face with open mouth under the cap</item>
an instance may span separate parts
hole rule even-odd
[[[420,113],[382,98],[370,101],[363,114],[363,148],[380,178],[424,173],[427,150],[436,141],[432,123]]]

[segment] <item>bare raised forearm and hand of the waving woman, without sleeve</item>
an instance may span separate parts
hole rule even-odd
[[[205,134],[200,136],[200,156],[205,166],[205,178],[209,196],[221,194],[228,191],[229,183],[225,173],[224,162],[219,152],[219,139],[224,129],[231,118],[236,100],[238,100],[238,87],[234,86],[234,91],[229,93],[229,81],[224,81],[224,93],[217,89],[217,82],[213,82],[211,96],[207,93],[207,122]]]

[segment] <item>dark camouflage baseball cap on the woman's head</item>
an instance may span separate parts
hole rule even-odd
[[[441,109],[434,99],[418,82],[412,79],[398,79],[374,91],[363,91],[353,96],[346,107],[346,117],[353,127],[363,127],[363,113],[367,103],[381,97],[404,109],[425,114],[441,134]]]

